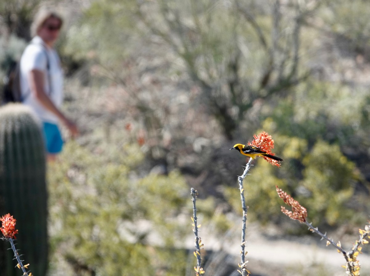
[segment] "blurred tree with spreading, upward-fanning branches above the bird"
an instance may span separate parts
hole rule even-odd
[[[269,2],[234,0],[222,8],[221,1],[206,0],[138,3],[140,20],[185,62],[228,139],[255,100],[286,92],[310,75],[300,67],[300,32],[322,1],[274,0],[271,9],[263,6]],[[264,52],[259,64],[247,56],[253,50]]]

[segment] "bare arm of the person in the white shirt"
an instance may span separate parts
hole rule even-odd
[[[54,105],[50,98],[44,91],[44,73],[40,70],[33,69],[29,73],[29,83],[31,93],[36,96],[36,99],[43,105],[47,110],[53,113],[58,119],[70,130],[72,136],[78,134],[77,126],[74,122],[69,120],[64,114]]]

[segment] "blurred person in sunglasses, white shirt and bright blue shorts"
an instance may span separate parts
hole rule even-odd
[[[54,11],[40,10],[31,25],[33,39],[20,59],[21,100],[30,106],[42,122],[48,160],[55,160],[63,147],[58,123],[71,136],[78,134],[75,123],[60,110],[63,102],[63,71],[54,44],[63,19]]]

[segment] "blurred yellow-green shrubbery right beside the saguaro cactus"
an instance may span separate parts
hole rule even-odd
[[[108,276],[184,274],[185,252],[173,249],[190,229],[177,219],[189,198],[184,179],[175,171],[140,177],[139,147],[116,152],[112,158],[67,143],[51,164],[53,266]]]

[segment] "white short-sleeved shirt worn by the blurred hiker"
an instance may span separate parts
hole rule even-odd
[[[49,69],[47,69],[48,63]],[[60,66],[60,59],[57,52],[48,48],[38,36],[34,37],[30,44],[27,45],[20,60],[22,100],[25,105],[30,106],[36,112],[41,121],[56,124],[58,123],[57,116],[44,108],[36,99],[34,93],[31,93],[28,79],[33,69],[44,73],[44,91],[55,106],[61,106],[63,101],[63,71]]]

